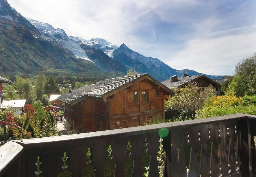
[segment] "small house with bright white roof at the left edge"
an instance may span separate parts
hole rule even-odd
[[[26,100],[4,100],[1,108],[11,108],[16,114],[22,114]]]

